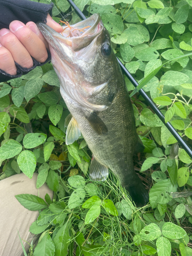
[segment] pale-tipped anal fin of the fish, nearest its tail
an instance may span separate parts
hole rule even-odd
[[[108,178],[109,169],[103,164],[99,163],[94,157],[90,165],[90,178],[94,181],[104,181]]]

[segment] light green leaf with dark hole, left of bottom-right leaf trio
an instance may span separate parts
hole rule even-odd
[[[144,241],[153,241],[161,236],[161,230],[155,223],[145,226],[139,233]]]

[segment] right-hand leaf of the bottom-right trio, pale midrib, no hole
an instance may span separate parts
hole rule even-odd
[[[182,227],[171,222],[166,222],[162,227],[162,234],[169,239],[181,239],[186,236],[186,232]]]

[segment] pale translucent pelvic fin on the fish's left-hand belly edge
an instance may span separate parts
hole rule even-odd
[[[66,131],[66,144],[72,144],[75,140],[77,140],[80,137],[80,135],[81,131],[77,125],[77,121],[74,117],[72,117]]]

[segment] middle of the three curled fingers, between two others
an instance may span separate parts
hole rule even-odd
[[[12,54],[14,61],[20,66],[28,69],[33,67],[33,60],[29,52],[8,29],[0,30],[0,42]]]

